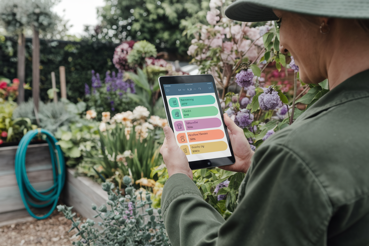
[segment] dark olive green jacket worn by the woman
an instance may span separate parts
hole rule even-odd
[[[223,217],[174,174],[161,208],[173,246],[368,246],[369,70],[264,142]]]

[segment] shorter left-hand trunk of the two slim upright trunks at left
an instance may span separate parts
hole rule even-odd
[[[17,103],[21,104],[24,102],[24,87],[25,83],[25,37],[23,32],[18,36],[18,67],[17,67],[17,77],[19,79],[18,87],[18,98]]]

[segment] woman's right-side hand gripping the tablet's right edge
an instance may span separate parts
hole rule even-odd
[[[254,155],[254,151],[251,150],[244,131],[226,113],[224,114],[224,123],[228,128],[228,135],[230,136],[236,162],[232,165],[220,166],[219,168],[227,171],[246,173],[251,165],[251,157]]]

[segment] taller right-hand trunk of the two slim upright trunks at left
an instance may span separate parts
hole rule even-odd
[[[35,27],[32,29],[32,97],[35,109],[38,111],[40,97],[40,39],[38,30]]]

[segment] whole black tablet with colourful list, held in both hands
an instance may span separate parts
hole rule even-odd
[[[235,163],[214,77],[159,77],[166,118],[192,170]]]

